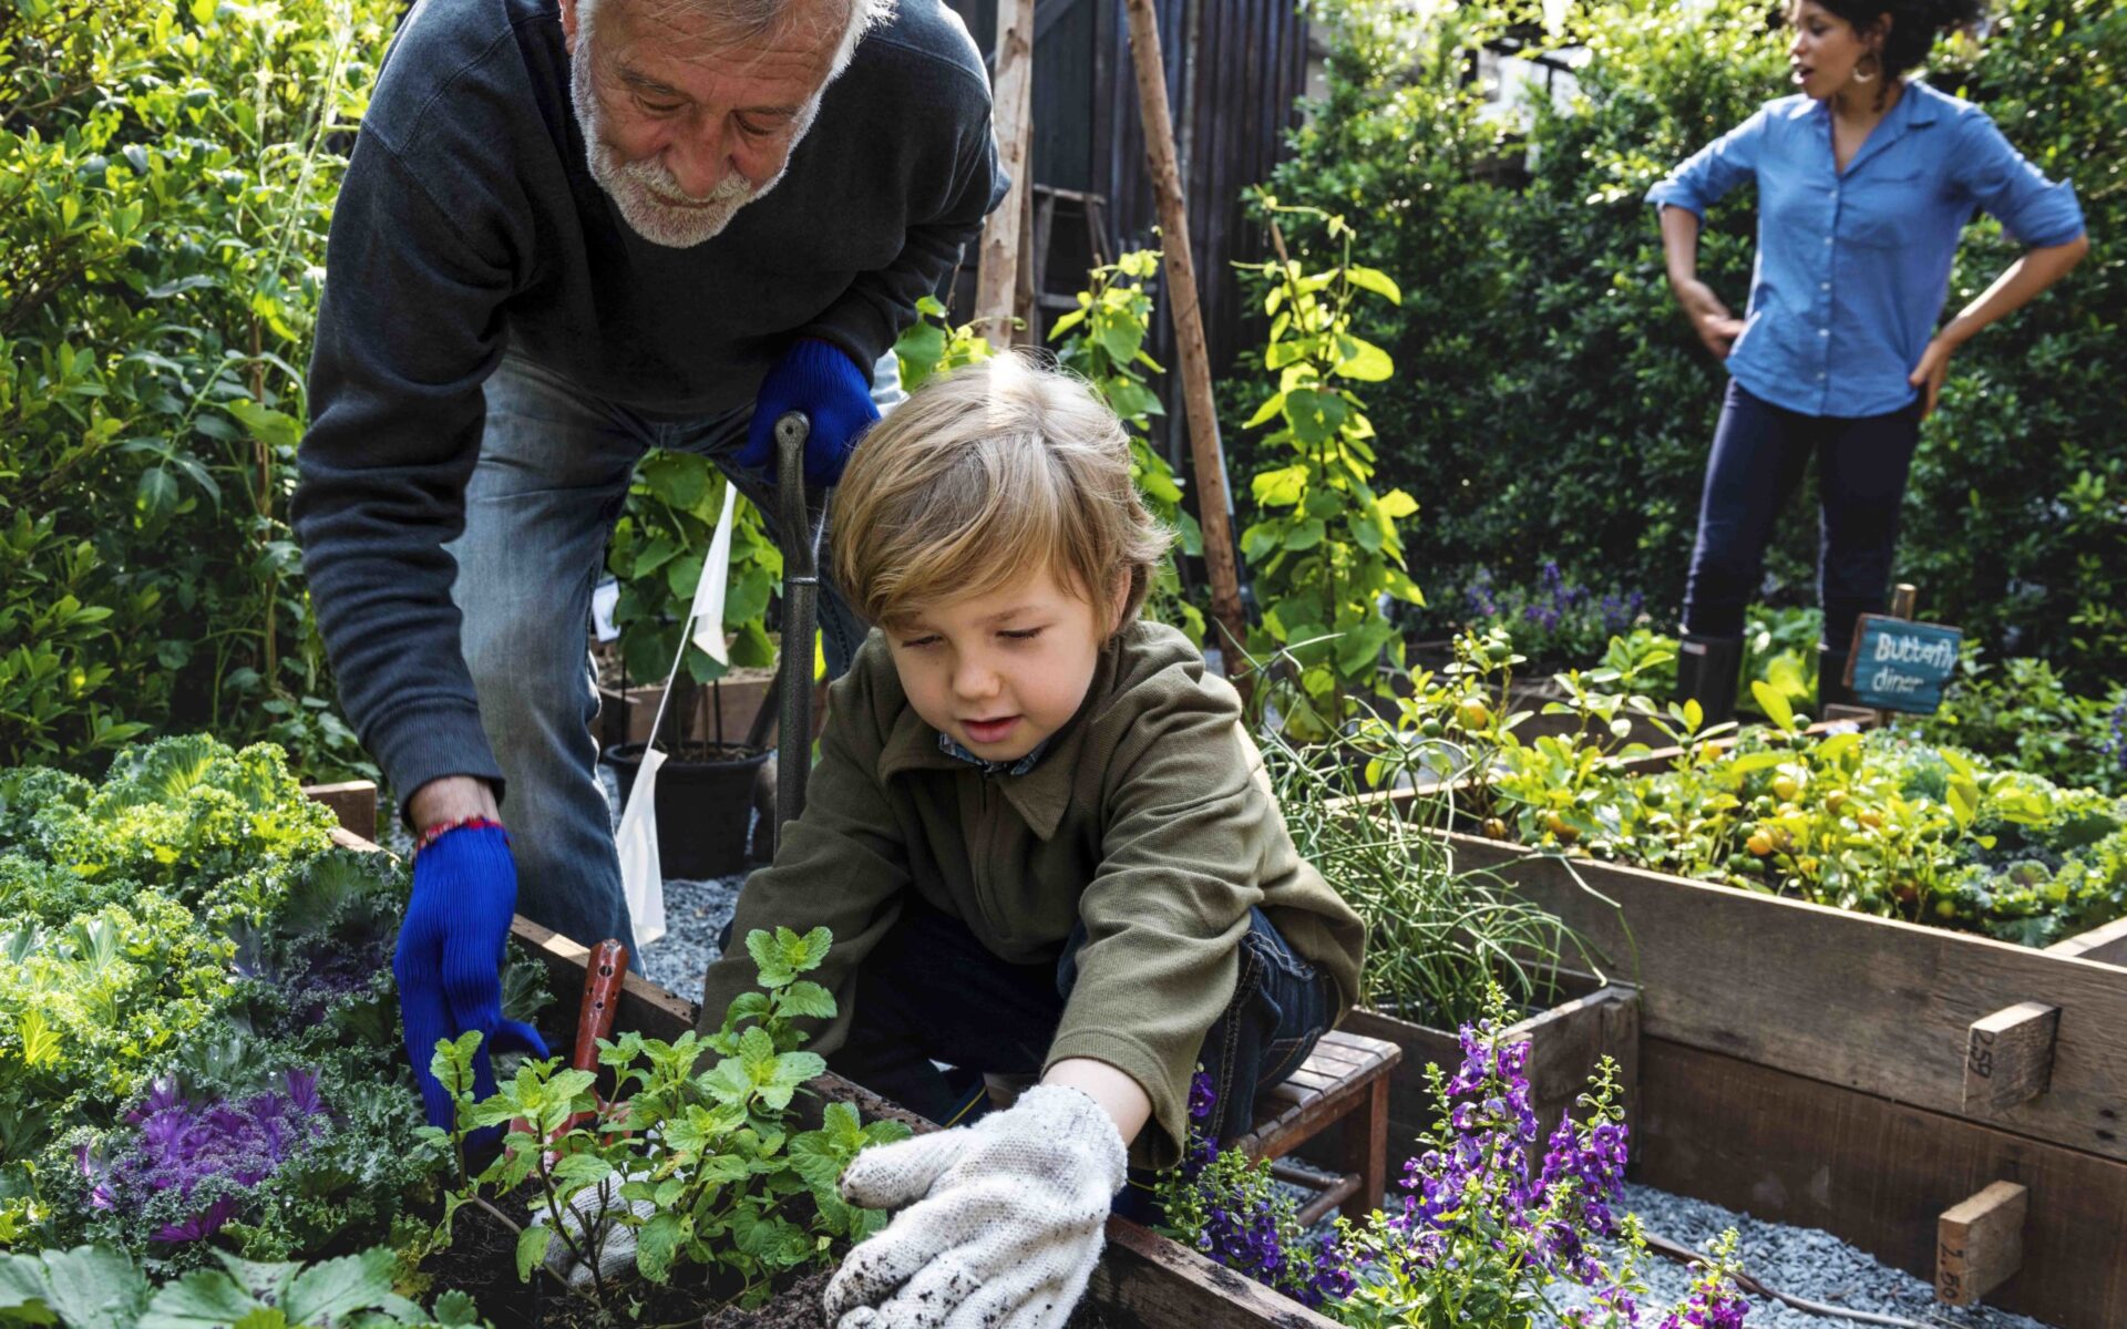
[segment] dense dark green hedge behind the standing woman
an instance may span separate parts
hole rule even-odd
[[[1325,0],[1327,102],[1278,168],[1283,202],[1351,217],[1361,257],[1404,287],[1370,336],[1402,370],[1370,406],[1380,478],[1419,493],[1412,574],[1429,593],[1478,566],[1534,583],[1555,559],[1640,589],[1674,617],[1723,389],[1676,313],[1648,185],[1785,94],[1778,6],[1604,0],[1568,17],[1591,51],[1580,96],[1527,136],[1476,115],[1472,51],[1506,17],[1417,19]],[[1519,30],[1529,36],[1527,30]],[[2108,0],[1999,0],[1982,47],[1944,45],[1933,81],[1967,96],[2053,176],[2070,176],[2093,253],[1950,368],[1923,432],[1897,576],[1929,617],[1997,649],[2097,672],[2127,655],[2127,11]],[[1708,219],[1699,270],[1748,296],[1755,198]],[[1993,221],[1959,251],[1950,310],[2014,257]],[[1812,600],[1814,510],[1793,504],[1770,572]],[[1436,606],[1455,610],[1446,598]],[[1438,612],[1438,608],[1436,608]]]

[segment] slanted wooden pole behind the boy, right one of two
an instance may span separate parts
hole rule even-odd
[[[1210,612],[1225,629],[1223,655],[1238,659],[1249,640],[1240,610],[1240,570],[1234,529],[1225,519],[1225,461],[1219,455],[1219,415],[1210,400],[1210,351],[1204,347],[1204,308],[1198,304],[1195,259],[1189,253],[1189,202],[1174,159],[1174,119],[1168,113],[1166,57],[1151,0],[1129,0],[1129,55],[1138,72],[1138,108],[1144,115],[1144,166],[1159,196],[1159,249],[1168,266],[1168,315],[1183,370],[1189,417],[1189,461],[1198,483],[1198,525],[1204,527],[1204,572],[1210,576]],[[1227,663],[1227,674],[1236,674]]]

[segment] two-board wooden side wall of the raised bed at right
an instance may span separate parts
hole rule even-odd
[[[1640,1180],[1923,1278],[1944,1272],[1944,1214],[2016,1182],[2021,1269],[1980,1295],[2061,1329],[2127,1325],[2127,968],[1446,842],[1638,982]]]

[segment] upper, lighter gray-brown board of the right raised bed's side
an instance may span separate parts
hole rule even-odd
[[[1500,872],[1638,982],[1648,1038],[2127,1159],[2123,968],[1476,836],[1448,844],[1457,870]],[[2048,1089],[1965,1112],[1970,1027],[2021,1002],[2061,1012]]]

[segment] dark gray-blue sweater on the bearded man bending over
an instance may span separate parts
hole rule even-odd
[[[1004,194],[983,60],[942,0],[900,0],[783,183],[693,249],[621,221],[568,70],[553,0],[423,0],[332,217],[294,521],[340,704],[400,800],[502,783],[442,549],[502,353],[653,419],[742,408],[795,338],[885,355]]]

